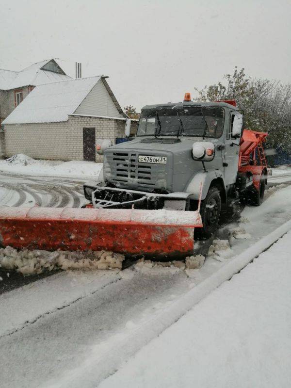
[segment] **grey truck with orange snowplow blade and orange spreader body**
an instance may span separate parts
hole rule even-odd
[[[147,105],[133,140],[96,145],[97,181],[84,185],[84,209],[1,208],[2,245],[112,250],[151,258],[193,254],[221,206],[259,206],[267,183],[267,133],[242,129],[235,101]]]

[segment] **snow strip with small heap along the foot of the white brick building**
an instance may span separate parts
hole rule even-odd
[[[0,161],[0,171],[34,176],[95,179],[101,168],[102,163],[35,160],[23,154]]]

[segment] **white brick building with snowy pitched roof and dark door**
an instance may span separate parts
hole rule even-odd
[[[100,162],[96,140],[110,139],[114,144],[116,137],[124,137],[128,119],[106,78],[36,86],[2,122],[2,155]]]

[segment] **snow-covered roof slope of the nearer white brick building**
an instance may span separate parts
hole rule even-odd
[[[102,76],[39,85],[2,124],[53,123],[68,120]]]

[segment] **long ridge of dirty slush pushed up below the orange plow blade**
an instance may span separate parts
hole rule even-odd
[[[123,255],[110,251],[49,252],[28,249],[17,251],[10,246],[0,248],[0,267],[16,270],[23,275],[41,274],[58,269],[121,269],[123,260]]]

